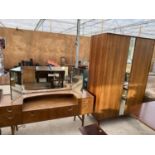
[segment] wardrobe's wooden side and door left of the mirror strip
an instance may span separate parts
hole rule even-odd
[[[96,96],[98,119],[118,115],[130,37],[102,34],[92,37],[89,91]]]

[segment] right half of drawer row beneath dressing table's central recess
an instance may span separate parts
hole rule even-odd
[[[49,119],[74,116],[77,114],[78,105],[59,107],[49,110]]]

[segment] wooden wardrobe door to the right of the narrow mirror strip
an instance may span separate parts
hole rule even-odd
[[[140,106],[143,101],[153,50],[154,40],[144,38],[136,39],[129,79],[127,113],[132,113],[134,107]]]

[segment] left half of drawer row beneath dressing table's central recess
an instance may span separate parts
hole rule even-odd
[[[48,120],[48,110],[26,111],[22,114],[23,123],[32,123]]]

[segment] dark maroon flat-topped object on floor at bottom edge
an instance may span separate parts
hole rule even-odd
[[[83,135],[107,135],[97,124],[80,127],[79,130]]]

